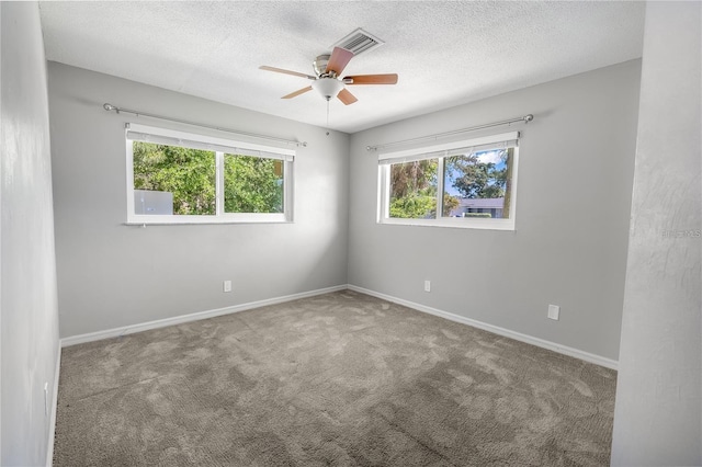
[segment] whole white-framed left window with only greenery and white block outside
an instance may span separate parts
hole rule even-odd
[[[127,224],[292,220],[291,149],[127,124]]]

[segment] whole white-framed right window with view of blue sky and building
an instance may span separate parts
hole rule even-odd
[[[378,221],[514,229],[519,133],[378,157]]]

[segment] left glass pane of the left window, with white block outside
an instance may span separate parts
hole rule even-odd
[[[215,152],[133,143],[134,212],[215,215]]]

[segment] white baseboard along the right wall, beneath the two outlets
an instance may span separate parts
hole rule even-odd
[[[528,344],[536,345],[539,348],[547,349],[564,355],[573,356],[576,358],[584,360],[589,363],[593,363],[596,365],[604,366],[611,369],[618,369],[619,362],[605,358],[600,355],[596,355],[589,352],[584,352],[578,349],[573,349],[566,345],[561,345],[555,342],[546,341],[543,339],[534,338],[532,335],[522,334],[521,332],[511,331],[509,329],[500,328],[499,326],[488,324],[486,322],[477,321],[475,319],[465,318],[463,316],[454,315],[452,312],[443,311],[437,308],[431,308],[426,305],[416,304],[414,301],[404,300],[401,298],[393,297],[390,295],[381,294],[380,292],[370,291],[367,288],[358,287],[355,285],[349,284],[349,289],[359,292],[361,294],[371,295],[373,297],[382,298],[387,301],[392,301],[398,305],[406,306],[408,308],[412,308],[418,311],[427,312],[429,315],[434,315],[441,318],[449,319],[451,321],[460,322],[462,324],[472,326],[474,328],[483,329],[484,331],[492,332],[494,334],[503,335],[506,338],[514,339],[516,341],[525,342]]]

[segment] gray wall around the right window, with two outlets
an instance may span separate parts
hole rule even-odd
[[[616,360],[639,72],[634,60],[352,135],[349,283]],[[516,231],[376,224],[367,145],[529,113]]]

